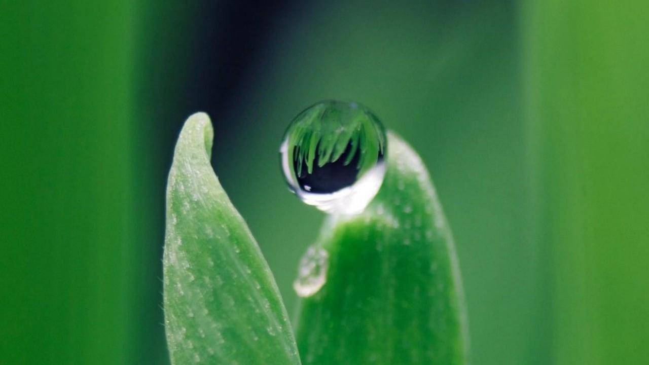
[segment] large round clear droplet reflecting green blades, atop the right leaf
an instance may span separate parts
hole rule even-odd
[[[357,103],[323,101],[301,112],[280,146],[289,188],[329,213],[361,212],[386,173],[386,131]]]

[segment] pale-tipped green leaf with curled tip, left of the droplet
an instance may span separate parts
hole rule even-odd
[[[275,280],[210,166],[204,113],[185,123],[167,183],[164,310],[172,364],[300,364]]]

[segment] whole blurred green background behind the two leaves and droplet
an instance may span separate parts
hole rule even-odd
[[[165,364],[173,144],[197,110],[286,301],[323,215],[278,145],[360,101],[432,172],[472,364],[649,359],[649,3],[0,1],[0,364]]]

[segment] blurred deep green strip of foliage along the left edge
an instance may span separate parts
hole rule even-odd
[[[134,228],[159,223],[133,220],[134,11],[0,9],[0,363],[136,363],[158,258]]]

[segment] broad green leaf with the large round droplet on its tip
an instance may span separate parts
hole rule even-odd
[[[450,229],[419,156],[395,134],[388,140],[378,195],[357,216],[330,216],[300,264],[304,364],[467,362]]]

